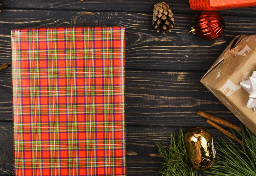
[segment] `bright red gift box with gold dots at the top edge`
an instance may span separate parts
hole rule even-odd
[[[256,6],[256,0],[189,0],[192,10],[225,10]]]

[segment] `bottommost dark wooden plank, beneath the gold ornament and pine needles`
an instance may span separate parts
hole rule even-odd
[[[191,126],[183,130],[189,130]],[[223,138],[223,134],[217,130],[209,130],[212,133],[214,141],[217,138]],[[160,167],[157,160],[160,160],[157,152],[156,143],[168,139],[170,133],[176,133],[180,130],[168,127],[137,127],[127,126],[126,144],[127,144],[127,175],[154,176]],[[13,164],[13,139],[12,123],[0,123],[0,175],[14,175]],[[218,145],[215,145],[218,149]]]

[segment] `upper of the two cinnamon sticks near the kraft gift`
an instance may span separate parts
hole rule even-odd
[[[200,115],[200,116],[202,116],[202,117],[204,117],[204,118],[207,118],[207,119],[209,119],[209,120],[211,120],[211,121],[213,121],[213,122],[216,122],[216,123],[218,123],[218,124],[224,125],[224,126],[226,126],[226,127],[229,127],[229,128],[231,128],[231,129],[234,129],[234,130],[237,130],[237,131],[239,131],[239,132],[242,131],[242,129],[241,129],[239,126],[237,126],[237,125],[235,125],[235,124],[232,124],[232,123],[230,123],[230,122],[228,122],[228,121],[226,121],[226,120],[224,120],[224,119],[222,119],[222,118],[220,118],[220,117],[216,117],[216,116],[214,116],[214,115],[208,114],[208,113],[203,112],[203,111],[201,111],[201,110],[196,111],[196,114],[197,114],[197,115]]]

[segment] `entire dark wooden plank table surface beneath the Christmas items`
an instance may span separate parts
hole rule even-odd
[[[175,27],[163,35],[152,26],[156,0],[0,0],[0,175],[14,175],[11,94],[11,30],[43,26],[126,27],[127,175],[154,176],[160,167],[156,143],[182,128],[207,127],[203,110],[242,123],[200,79],[230,41],[256,33],[256,7],[219,11],[225,31],[205,41],[189,34],[198,11],[188,0],[168,0]],[[221,146],[216,146],[218,147]],[[218,154],[218,153],[217,153]]]

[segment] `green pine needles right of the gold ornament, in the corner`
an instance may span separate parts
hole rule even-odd
[[[256,176],[256,136],[247,128],[238,134],[247,147],[229,138],[220,139],[222,145],[216,148],[215,165],[204,170],[206,176]]]

